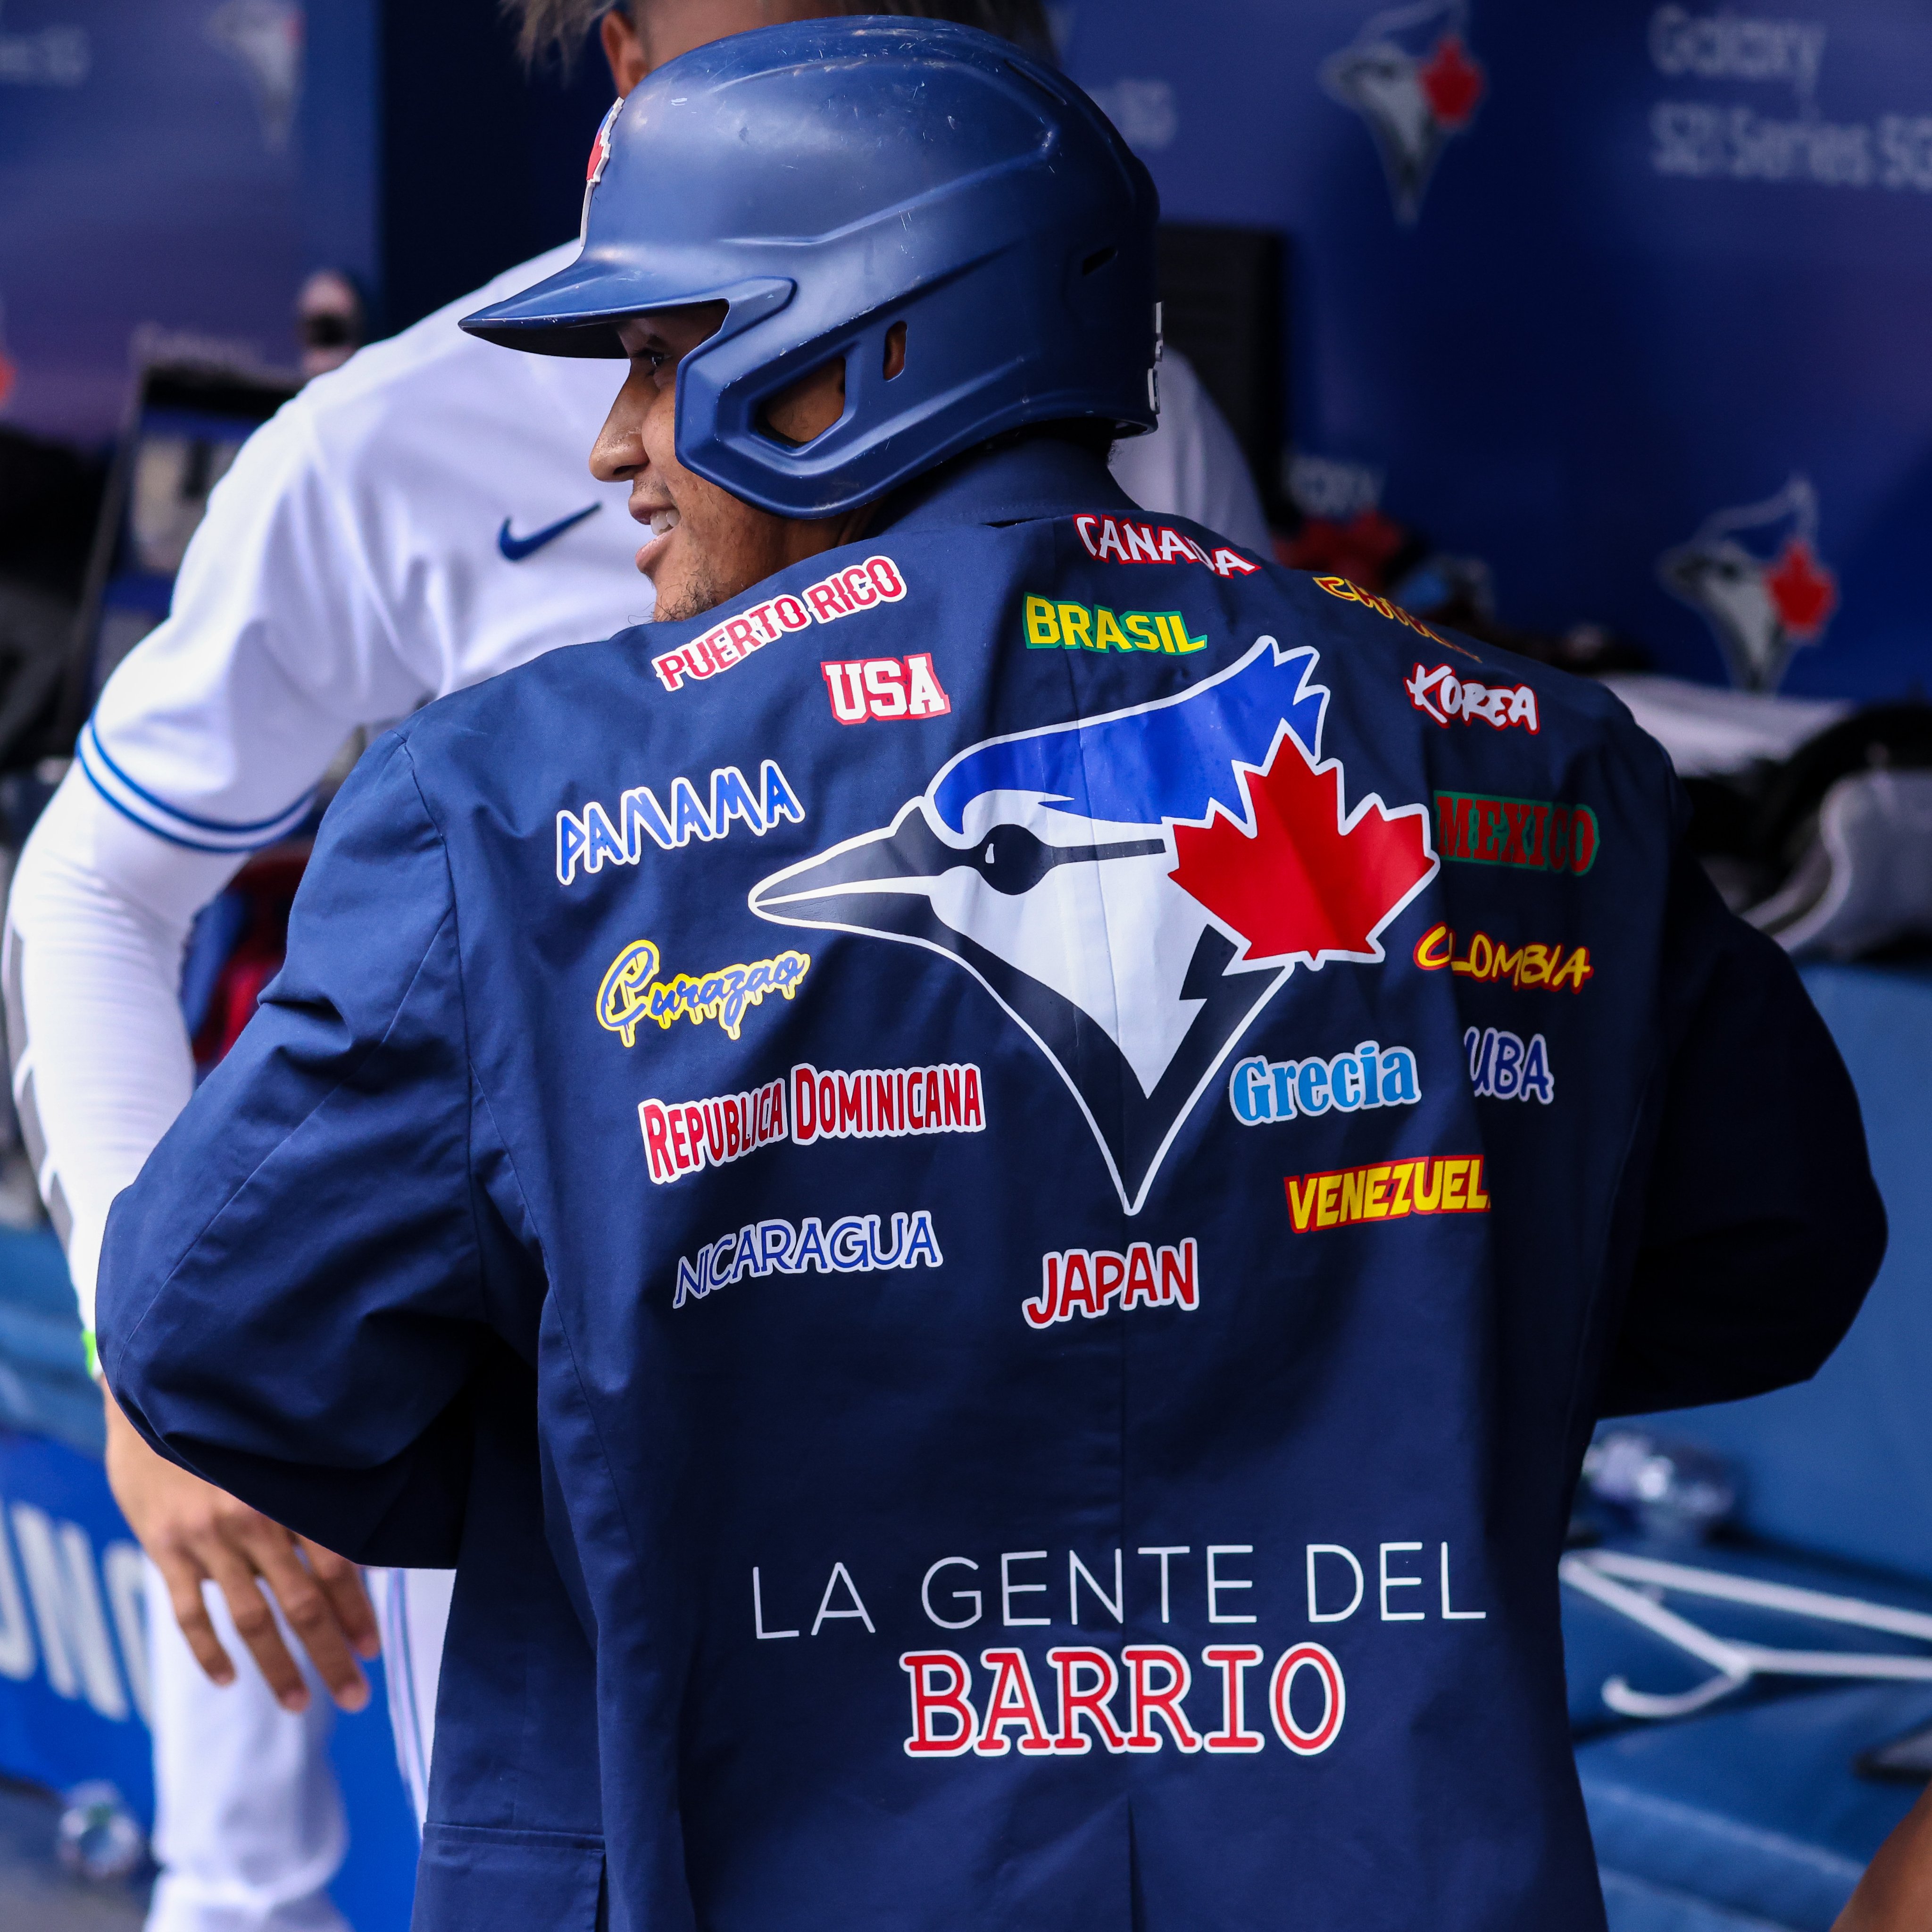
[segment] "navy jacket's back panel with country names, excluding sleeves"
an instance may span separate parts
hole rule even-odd
[[[412,726],[612,1922],[1600,1922],[1553,1561],[1662,757],[1122,526],[900,526]]]

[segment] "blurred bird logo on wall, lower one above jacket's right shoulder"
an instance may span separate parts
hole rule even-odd
[[[1706,518],[1658,558],[1658,576],[1702,612],[1745,692],[1776,692],[1791,653],[1818,643],[1837,609],[1837,578],[1818,558],[1818,493],[1801,475],[1764,502]]]

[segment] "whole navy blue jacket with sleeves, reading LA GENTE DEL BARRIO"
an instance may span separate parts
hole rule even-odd
[[[1808,1376],[1884,1242],[1681,815],[1057,442],[371,748],[100,1331],[458,1565],[417,1922],[1602,1924],[1592,1420]]]

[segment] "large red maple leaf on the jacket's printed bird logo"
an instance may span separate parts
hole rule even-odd
[[[1287,732],[1240,786],[1248,825],[1219,806],[1175,825],[1175,885],[1240,933],[1248,964],[1379,958],[1376,931],[1434,869],[1426,815],[1374,798],[1347,823],[1341,763],[1316,769]]]

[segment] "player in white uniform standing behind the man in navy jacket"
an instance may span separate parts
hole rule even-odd
[[[757,0],[612,10],[603,43],[618,91],[765,12]],[[1036,0],[939,12],[1045,41]],[[585,25],[582,10],[529,14],[533,27]],[[456,327],[572,253],[512,269],[365,350],[249,440],[189,547],[168,622],[102,692],[27,846],[6,933],[14,1088],[89,1325],[108,1204],[193,1084],[178,1005],[193,916],[251,850],[303,825],[348,734],[651,611],[634,533],[585,471],[607,371],[512,359]],[[1126,489],[1264,545],[1225,421],[1179,357],[1163,384],[1159,433],[1122,444]],[[153,1455],[112,1403],[108,1432],[116,1495],[158,1565],[151,1602],[166,1596],[180,1619],[151,1621],[162,1861],[151,1926],[332,1926],[323,1888],[344,1853],[342,1808],[313,1690],[363,1700],[355,1654],[373,1654],[381,1621],[421,1812],[448,1577],[377,1577],[373,1611],[352,1565]],[[259,1673],[236,1671],[238,1638]]]

